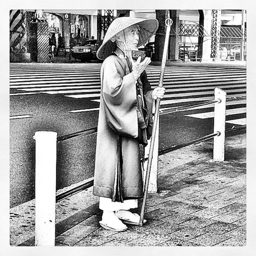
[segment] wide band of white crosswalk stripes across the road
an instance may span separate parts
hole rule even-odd
[[[10,64],[10,96],[45,93],[74,99],[100,102],[101,64]],[[152,88],[158,86],[161,67],[146,68]],[[166,94],[161,109],[188,105],[214,98],[214,88],[227,92],[227,97],[246,96],[246,69],[225,67],[166,67],[164,73]],[[246,100],[227,102],[227,115],[246,113]],[[204,112],[201,106],[194,110]],[[71,113],[97,111],[98,108],[69,110]],[[195,116],[194,116],[195,115]],[[208,114],[204,114],[208,115]],[[210,115],[210,114],[209,114]],[[197,114],[191,114],[198,117]],[[211,116],[211,115],[210,115]]]

